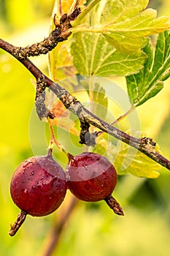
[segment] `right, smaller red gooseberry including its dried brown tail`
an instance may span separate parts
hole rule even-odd
[[[109,160],[91,152],[76,157],[69,155],[66,169],[68,188],[78,199],[87,202],[106,200],[116,214],[123,215],[117,201],[111,196],[117,183],[117,173]]]

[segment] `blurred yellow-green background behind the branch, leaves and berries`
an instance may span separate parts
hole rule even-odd
[[[158,15],[170,17],[169,0],[150,1],[150,7],[158,8]],[[47,37],[52,10],[53,1],[48,0],[0,0],[1,38],[20,46],[41,41]],[[47,74],[47,56],[31,60]],[[0,255],[42,256],[49,245],[50,230],[72,197],[67,193],[61,209],[50,216],[28,217],[17,235],[9,237],[9,223],[19,213],[9,195],[12,173],[23,159],[46,154],[48,136],[45,124],[35,114],[33,78],[3,50],[0,50],[0,80]],[[170,80],[167,80],[158,96],[137,111],[142,131],[158,141],[163,155],[170,159],[169,99]],[[125,217],[112,214],[104,202],[78,203],[53,255],[169,255],[169,184],[170,173],[165,168],[161,168],[157,180],[131,175],[119,177],[115,197],[123,206]]]

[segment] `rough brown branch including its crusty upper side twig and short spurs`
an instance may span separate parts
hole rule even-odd
[[[9,42],[4,41],[3,39],[0,39],[0,48],[14,56],[15,59],[18,59],[18,61],[20,61],[20,63],[22,63],[26,67],[26,69],[28,69],[28,71],[31,72],[32,75],[34,75],[34,78],[36,78],[36,107],[38,106],[40,111],[38,113],[39,117],[41,118],[44,114],[43,111],[47,110],[44,105],[45,96],[41,94],[44,93],[45,88],[49,88],[57,95],[59,99],[61,99],[63,105],[70,111],[72,111],[72,113],[74,113],[80,119],[80,124],[86,124],[86,126],[87,124],[93,125],[94,127],[101,129],[101,131],[107,132],[109,135],[117,138],[117,140],[122,140],[124,143],[127,143],[128,145],[139,149],[139,151],[147,155],[147,157],[150,157],[155,162],[158,162],[160,165],[170,170],[170,161],[163,157],[161,154],[159,154],[157,151],[155,151],[155,146],[153,145],[152,140],[150,140],[150,143],[148,143],[148,140],[144,140],[144,138],[134,138],[133,136],[126,134],[120,129],[113,127],[112,124],[108,124],[106,121],[98,118],[98,116],[87,110],[80,101],[78,101],[75,97],[69,94],[69,91],[66,91],[66,89],[59,86],[58,83],[54,83],[53,80],[50,80],[50,78],[47,78],[47,76],[45,76],[38,69],[38,67],[36,67],[28,59],[28,56],[37,56],[42,53],[47,53],[49,50],[55,48],[58,42],[67,39],[70,35],[70,31],[68,30],[71,26],[70,21],[74,20],[74,18],[76,18],[79,14],[80,8],[76,7],[71,15],[62,15],[59,23],[55,19],[55,30],[50,33],[50,36],[44,41],[34,44],[28,48],[18,48],[9,44]],[[41,103],[40,106],[39,103]],[[53,116],[50,116],[50,113],[48,112],[45,114],[45,116],[53,118]],[[82,128],[82,133],[85,137],[88,129],[85,132],[85,127]]]

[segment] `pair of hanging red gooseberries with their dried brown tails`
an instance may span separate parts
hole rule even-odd
[[[123,215],[111,195],[117,183],[113,165],[105,157],[90,152],[76,157],[68,154],[68,158],[66,172],[53,159],[51,149],[47,156],[30,157],[15,170],[10,192],[21,212],[9,230],[10,236],[15,235],[27,214],[42,217],[61,206],[66,189],[80,200],[105,200],[116,214]]]

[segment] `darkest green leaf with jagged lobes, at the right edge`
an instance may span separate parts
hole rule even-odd
[[[143,49],[147,55],[144,68],[126,78],[131,103],[139,106],[163,89],[163,81],[170,76],[170,34],[158,35],[155,53],[151,42]],[[155,56],[155,57],[154,57]]]

